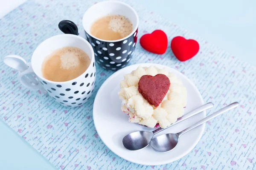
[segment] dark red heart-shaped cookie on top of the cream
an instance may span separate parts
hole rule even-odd
[[[157,108],[168,92],[170,84],[169,78],[164,74],[144,75],[140,78],[138,90],[150,105]]]

